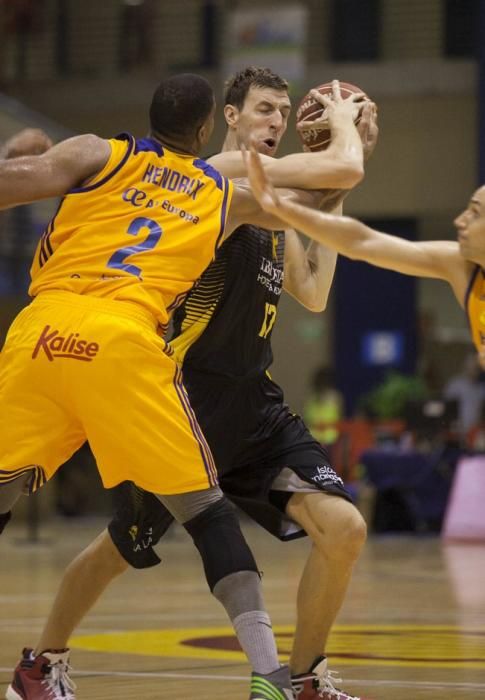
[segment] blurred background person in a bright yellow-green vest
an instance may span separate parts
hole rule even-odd
[[[337,441],[344,400],[335,386],[334,371],[330,367],[319,367],[313,375],[311,394],[303,413],[308,428],[317,440],[324,445],[333,445]]]

